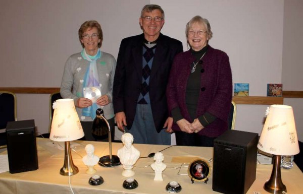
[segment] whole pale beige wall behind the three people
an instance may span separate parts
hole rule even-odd
[[[80,25],[97,20],[104,30],[102,49],[117,57],[121,39],[141,33],[143,5],[159,4],[166,20],[164,34],[186,48],[185,25],[191,17],[209,19],[210,44],[230,57],[233,82],[249,83],[250,96],[266,96],[267,83],[284,90],[302,90],[302,1],[283,0],[28,0],[5,1],[0,7],[0,87],[59,87],[67,57],[81,50]],[[293,76],[294,75],[294,76]],[[48,95],[17,94],[18,119],[35,119],[47,132]],[[293,105],[299,139],[303,141],[301,100]],[[236,130],[260,133],[266,105],[238,105]],[[301,110],[302,108],[300,108]]]

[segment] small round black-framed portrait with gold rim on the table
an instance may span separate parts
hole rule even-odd
[[[194,160],[188,165],[187,172],[190,179],[194,181],[208,180],[211,175],[210,164],[203,159]]]

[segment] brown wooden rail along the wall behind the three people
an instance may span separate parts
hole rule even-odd
[[[52,94],[59,92],[60,88],[31,88],[31,87],[0,87],[0,90],[14,92],[16,94]],[[283,104],[284,98],[303,98],[303,91],[283,91],[283,97],[268,96],[234,96],[236,104]]]

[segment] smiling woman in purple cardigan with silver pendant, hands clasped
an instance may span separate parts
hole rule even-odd
[[[177,145],[213,147],[227,130],[232,76],[227,54],[214,49],[210,23],[200,16],[186,25],[190,49],[176,55],[167,86]]]

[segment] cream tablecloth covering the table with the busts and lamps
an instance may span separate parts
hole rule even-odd
[[[97,172],[95,174],[102,176],[105,182],[98,186],[88,184],[88,179],[92,175],[85,173],[87,167],[83,164],[81,156],[86,154],[84,148],[89,143],[94,145],[97,156],[109,155],[108,143],[71,142],[73,149],[77,152],[72,152],[72,157],[74,164],[79,168],[79,173],[69,177],[62,176],[59,173],[64,163],[64,150],[57,143],[49,139],[37,138],[39,169],[16,174],[10,174],[9,172],[0,173],[0,193],[72,193],[69,187],[69,178],[74,193],[81,194],[168,193],[165,190],[165,186],[172,180],[181,184],[182,190],[180,193],[218,193],[212,190],[212,174],[208,183],[194,182],[192,184],[188,175],[178,175],[178,167],[181,166],[181,163],[172,162],[172,160],[176,161],[180,157],[183,157],[183,159],[200,157],[209,160],[213,157],[213,148],[173,146],[163,151],[164,163],[167,164],[167,168],[163,172],[163,181],[154,181],[155,173],[149,166],[154,162],[153,158],[141,158],[135,164],[135,175],[133,176],[138,181],[139,186],[136,189],[127,190],[122,187],[122,183],[126,179],[126,177],[121,175],[122,166],[107,168],[96,165]],[[116,155],[117,150],[122,146],[120,143],[113,143],[113,154]],[[141,152],[141,157],[168,147],[140,144],[134,144],[134,146]],[[6,154],[6,151],[0,154]],[[212,166],[212,162],[210,164]],[[272,165],[257,165],[257,178],[247,193],[268,193],[263,189],[263,185],[270,178],[271,171]],[[179,174],[186,173],[187,167],[184,166],[181,168]],[[303,173],[296,165],[290,170],[281,169],[281,174],[283,183],[288,189],[288,194],[303,193]]]

